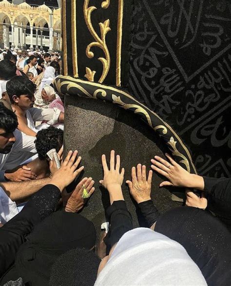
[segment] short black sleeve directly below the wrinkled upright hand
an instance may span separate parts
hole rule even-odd
[[[142,202],[138,204],[140,212],[144,219],[146,220],[148,227],[151,227],[158,219],[159,212],[152,200]]]

